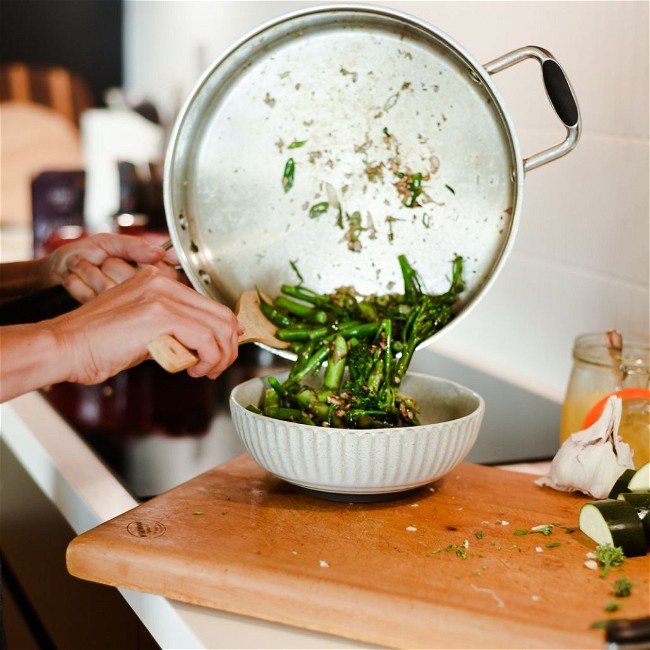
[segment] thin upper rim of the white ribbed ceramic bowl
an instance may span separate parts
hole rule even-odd
[[[418,431],[422,430],[427,427],[432,427],[432,426],[438,426],[438,425],[443,425],[443,424],[448,424],[451,422],[455,423],[461,423],[463,420],[468,420],[470,418],[475,418],[478,414],[485,412],[485,400],[479,393],[477,393],[475,390],[458,383],[457,381],[454,381],[452,379],[447,379],[445,377],[439,377],[438,375],[430,375],[428,373],[424,372],[410,372],[408,371],[405,375],[405,377],[415,377],[418,379],[425,379],[425,380],[434,380],[437,383],[444,383],[449,386],[456,387],[460,389],[465,395],[468,397],[473,397],[476,399],[476,407],[472,409],[470,413],[467,415],[463,415],[458,418],[453,418],[450,420],[442,420],[441,422],[429,422],[425,424],[417,424],[413,426],[406,426],[406,427],[378,427],[376,429],[352,429],[352,428],[344,428],[344,427],[325,427],[317,424],[303,424],[302,422],[288,422],[285,420],[279,420],[277,418],[272,418],[269,417],[268,415],[264,415],[263,413],[255,413],[253,411],[249,411],[246,406],[244,406],[238,399],[236,399],[236,393],[240,392],[240,389],[243,389],[244,386],[248,386],[253,383],[260,382],[262,386],[264,386],[264,382],[268,377],[282,377],[284,375],[288,374],[288,370],[282,370],[281,372],[270,372],[264,375],[259,375],[257,377],[251,377],[250,379],[247,379],[246,381],[243,381],[239,384],[237,384],[231,391],[230,391],[230,397],[229,397],[229,402],[231,404],[231,409],[233,406],[235,406],[237,409],[241,411],[245,411],[246,414],[250,414],[250,416],[255,416],[258,418],[264,418],[265,420],[273,421],[273,422],[282,422],[285,425],[291,425],[291,426],[297,426],[300,428],[306,428],[306,429],[311,429],[314,431],[331,431],[331,432],[338,432],[339,434],[364,434],[364,433],[372,433],[374,435],[377,435],[378,433],[382,432],[392,432],[393,434],[397,432],[409,432],[409,431]]]

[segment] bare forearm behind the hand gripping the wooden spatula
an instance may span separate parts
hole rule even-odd
[[[0,402],[66,380],[57,338],[46,323],[0,329]]]

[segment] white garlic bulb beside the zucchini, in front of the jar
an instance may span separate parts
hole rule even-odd
[[[596,422],[569,436],[555,454],[549,473],[535,483],[561,492],[607,498],[616,479],[634,468],[634,452],[618,435],[621,411],[621,398],[613,395]]]

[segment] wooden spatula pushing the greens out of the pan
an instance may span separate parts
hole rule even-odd
[[[262,294],[264,300],[268,300]],[[239,344],[262,343],[272,348],[286,349],[289,343],[275,337],[276,326],[269,321],[260,310],[257,291],[244,291],[237,301],[235,315],[244,327],[244,333],[239,337]],[[171,334],[157,336],[149,345],[152,358],[167,372],[180,372],[195,365],[199,358],[188,350]]]

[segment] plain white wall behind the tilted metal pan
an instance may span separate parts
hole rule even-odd
[[[170,118],[201,72],[250,29],[305,2],[126,0],[127,88]],[[648,2],[383,2],[417,15],[488,61],[550,50],[578,97],[577,149],[526,178],[505,269],[431,349],[562,399],[575,335],[649,336]],[[524,155],[563,138],[528,63],[494,77]],[[422,352],[421,354],[426,354]]]

